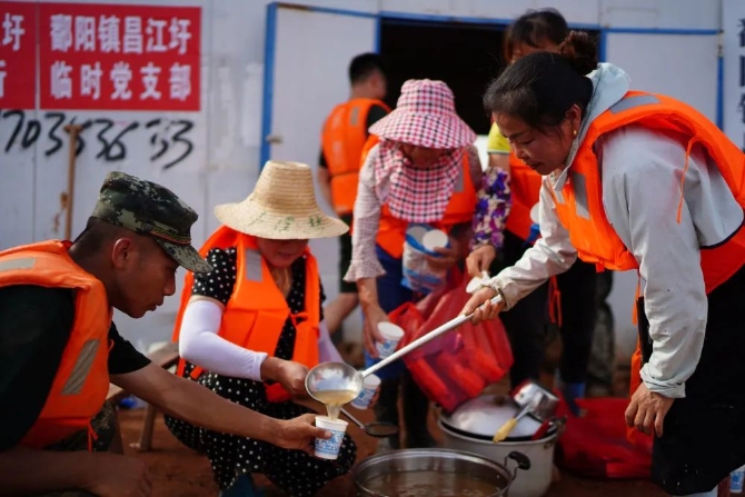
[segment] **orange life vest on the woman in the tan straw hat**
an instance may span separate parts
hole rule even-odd
[[[306,249],[306,290],[305,311],[291,315],[285,296],[275,284],[269,267],[261,256],[256,238],[239,233],[226,226],[212,233],[199,252],[207,256],[212,248],[236,247],[236,286],[225,306],[222,321],[218,335],[226,340],[249,350],[267,352],[274,356],[279,336],[282,332],[287,318],[291,318],[297,330],[292,360],[309,368],[318,364],[318,336],[320,324],[320,279],[316,258]],[[189,298],[193,275],[187,272],[181,306],[176,317],[173,341],[178,341],[181,320]],[[178,375],[185,374],[185,361],[180,360]],[[198,378],[202,368],[198,365],[191,371],[192,378]],[[290,395],[281,385],[266,386],[267,398],[279,402],[290,399]]]

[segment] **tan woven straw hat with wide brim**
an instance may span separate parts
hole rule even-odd
[[[268,161],[251,195],[217,206],[215,216],[236,231],[272,240],[331,238],[349,230],[318,207],[312,172],[299,162]]]

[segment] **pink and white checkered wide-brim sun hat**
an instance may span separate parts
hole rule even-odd
[[[430,79],[406,81],[396,109],[369,131],[388,140],[436,149],[456,149],[476,141],[474,130],[455,111],[450,88]]]

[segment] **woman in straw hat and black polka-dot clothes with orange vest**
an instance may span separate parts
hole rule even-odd
[[[178,374],[275,418],[309,412],[291,401],[305,395],[308,368],[342,360],[322,322],[322,289],[308,240],[348,228],[324,215],[310,169],[295,162],[267,162],[254,192],[217,206],[215,215],[222,226],[200,250],[215,270],[187,276],[181,296]],[[166,424],[209,457],[226,496],[251,495],[251,473],[265,474],[289,495],[315,495],[351,468],[357,451],[345,436],[338,459],[329,463],[170,417]]]

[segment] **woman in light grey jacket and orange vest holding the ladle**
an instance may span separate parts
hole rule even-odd
[[[629,91],[628,76],[597,64],[596,50],[573,31],[559,54],[524,57],[487,90],[515,153],[544,176],[542,238],[464,312],[497,316],[577,255],[636,269],[639,346],[626,423],[654,435],[657,485],[713,497],[745,464],[745,157],[692,107]],[[497,294],[503,305],[487,302]]]

